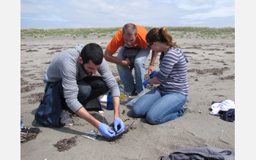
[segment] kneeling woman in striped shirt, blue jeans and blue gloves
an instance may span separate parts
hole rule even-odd
[[[152,71],[150,79],[143,82],[159,84],[140,97],[132,107],[132,115],[144,118],[149,124],[162,124],[184,115],[189,84],[187,82],[187,58],[173,42],[168,31],[153,28],[146,35],[148,47],[160,55],[159,72]]]

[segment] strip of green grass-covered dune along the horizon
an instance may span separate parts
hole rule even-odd
[[[25,39],[26,36],[32,36],[34,38],[43,38],[45,36],[83,36],[87,38],[90,35],[101,36],[114,36],[116,31],[122,27],[115,28],[50,28],[50,29],[20,29],[21,39]],[[154,27],[144,26],[146,30],[151,30]],[[235,28],[208,28],[208,27],[165,27],[173,36],[179,38],[195,38],[203,37],[206,39],[214,39],[221,37],[222,39],[233,38],[235,39]]]

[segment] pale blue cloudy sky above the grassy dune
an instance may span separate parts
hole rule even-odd
[[[20,28],[235,28],[235,0],[20,0]]]

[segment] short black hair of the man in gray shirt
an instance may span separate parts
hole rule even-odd
[[[83,65],[91,60],[94,65],[100,65],[103,60],[103,50],[99,44],[86,44],[80,52],[80,57],[82,57]]]

